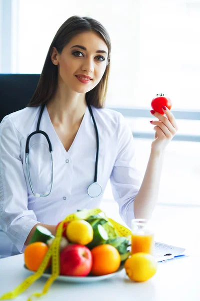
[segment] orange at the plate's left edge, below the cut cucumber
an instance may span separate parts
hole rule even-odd
[[[26,267],[31,271],[37,271],[47,251],[48,246],[41,241],[36,241],[27,245],[24,250],[24,262]],[[49,265],[50,260],[47,267]]]

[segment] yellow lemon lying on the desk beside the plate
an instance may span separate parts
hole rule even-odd
[[[157,262],[147,253],[132,254],[125,261],[125,271],[131,280],[142,282],[150,279],[157,270]]]

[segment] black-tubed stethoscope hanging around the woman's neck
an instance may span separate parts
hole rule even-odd
[[[102,187],[100,186],[100,184],[97,183],[98,148],[99,148],[98,130],[97,130],[96,122],[94,120],[94,116],[93,116],[90,104],[88,102],[87,102],[87,106],[88,106],[91,118],[93,120],[93,124],[94,124],[94,128],[95,128],[95,133],[96,133],[96,160],[95,160],[94,182],[91,183],[89,185],[89,187],[87,188],[87,194],[91,198],[97,198],[101,194],[101,192],[102,192]],[[26,154],[25,163],[26,163],[26,170],[27,170],[27,175],[28,175],[28,181],[29,181],[29,184],[30,184],[31,191],[32,191],[33,195],[36,198],[49,196],[49,194],[51,193],[51,190],[52,190],[52,186],[53,186],[53,155],[52,155],[52,145],[51,145],[51,142],[50,142],[50,139],[49,139],[47,133],[44,132],[44,131],[42,131],[42,130],[39,130],[40,120],[41,120],[41,116],[42,116],[44,107],[45,107],[45,104],[43,104],[42,107],[41,107],[41,110],[40,110],[40,113],[39,113],[39,117],[38,117],[38,120],[37,120],[36,131],[34,131],[34,132],[32,132],[32,133],[30,133],[28,135],[27,140],[26,140],[26,144],[25,144],[25,154]],[[29,173],[29,157],[28,157],[28,153],[29,153],[29,140],[30,140],[30,138],[34,134],[42,134],[42,135],[44,135],[45,138],[47,139],[47,142],[48,142],[49,152],[50,152],[50,156],[51,156],[51,187],[50,187],[49,193],[38,194],[38,193],[34,193],[34,191],[32,189],[32,185],[31,185],[31,181],[30,181],[30,173]]]

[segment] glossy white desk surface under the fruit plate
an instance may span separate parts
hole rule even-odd
[[[13,290],[30,273],[23,268],[23,254],[0,259],[0,295]],[[40,292],[47,278],[41,277],[14,300],[25,301]],[[136,283],[123,269],[115,277],[92,283],[54,281],[42,301],[199,301],[199,263],[197,255],[158,263],[156,274]]]

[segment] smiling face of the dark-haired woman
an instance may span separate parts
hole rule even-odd
[[[95,32],[83,32],[74,36],[61,54],[53,47],[51,60],[54,65],[58,65],[58,84],[63,83],[78,93],[90,91],[103,76],[107,54],[105,42]],[[77,77],[81,74],[82,77],[89,76],[91,80],[82,83]]]

